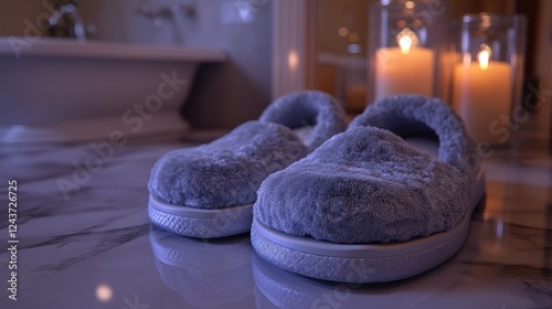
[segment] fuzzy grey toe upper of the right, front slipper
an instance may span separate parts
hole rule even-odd
[[[468,210],[466,183],[400,137],[359,127],[264,181],[254,215],[320,241],[404,242],[457,224]]]

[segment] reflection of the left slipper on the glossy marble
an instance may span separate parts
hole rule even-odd
[[[248,235],[197,239],[153,227],[149,237],[159,276],[187,303],[244,308],[253,298]]]

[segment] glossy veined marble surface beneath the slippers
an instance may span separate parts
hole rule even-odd
[[[191,145],[1,146],[0,307],[552,308],[545,149],[497,150],[484,162],[486,203],[450,260],[414,278],[359,286],[280,270],[253,252],[247,234],[202,241],[151,226],[150,168],[166,151]],[[12,238],[9,180],[17,180]],[[17,255],[6,249],[12,245]],[[8,289],[13,264],[17,301]]]

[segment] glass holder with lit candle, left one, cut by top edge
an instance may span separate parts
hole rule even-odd
[[[396,94],[443,97],[438,78],[446,2],[381,0],[370,15],[368,100]]]

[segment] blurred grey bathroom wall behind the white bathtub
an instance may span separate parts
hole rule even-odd
[[[26,22],[47,12],[45,0],[0,0],[0,35],[24,35]],[[195,17],[153,19],[153,10],[191,3]],[[200,128],[231,128],[258,117],[270,102],[272,0],[79,0],[93,40],[223,50],[224,65],[203,65],[183,114]]]

